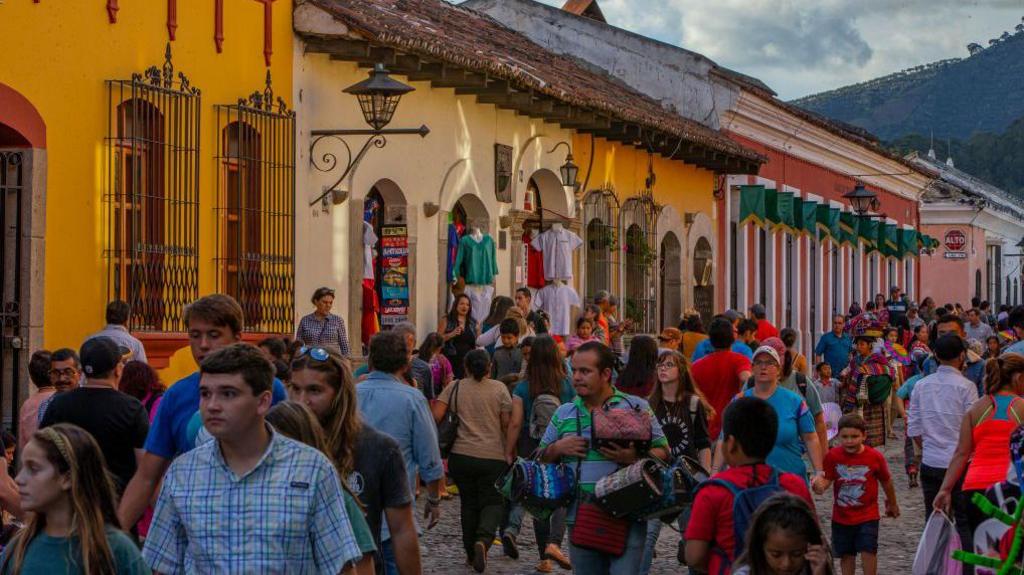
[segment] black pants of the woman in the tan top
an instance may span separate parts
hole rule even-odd
[[[495,482],[507,467],[504,460],[458,453],[449,456],[449,473],[459,487],[462,545],[466,548],[466,557],[473,557],[473,545],[478,541],[490,547],[495,539],[495,532],[504,515],[504,500],[495,489]]]

